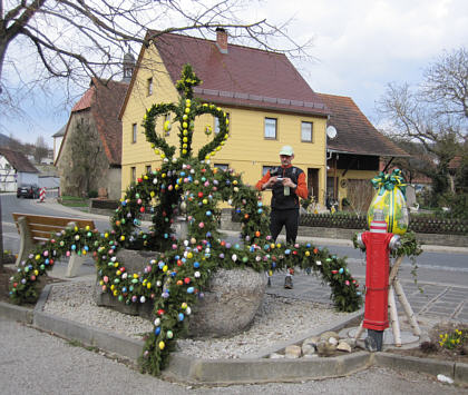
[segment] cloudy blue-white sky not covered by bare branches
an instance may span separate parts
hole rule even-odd
[[[264,0],[251,2],[245,16],[277,26],[291,18],[290,37],[312,38],[313,59],[292,60],[311,88],[351,97],[377,127],[376,102],[389,82],[417,85],[445,50],[468,45],[467,0]],[[2,119],[0,132],[32,144],[42,136],[52,147],[71,107],[64,90],[56,85],[46,98],[31,91],[27,116]]]

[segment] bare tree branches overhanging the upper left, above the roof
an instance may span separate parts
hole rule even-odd
[[[67,85],[61,89],[71,91],[75,83],[86,86],[89,77],[113,78],[131,43],[139,49],[166,32],[205,36],[224,27],[241,42],[306,53],[310,41],[298,45],[284,24],[243,20],[251,4],[247,0],[0,0],[0,106],[18,109],[14,98],[31,83],[50,87],[51,79],[59,78]]]

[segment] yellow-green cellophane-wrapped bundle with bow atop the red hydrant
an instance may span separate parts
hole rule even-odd
[[[381,210],[387,223],[387,231],[403,235],[408,230],[409,216],[404,196],[407,184],[401,176],[401,170],[394,169],[391,175],[380,171],[379,176],[372,178],[371,182],[378,192],[369,206],[369,228],[374,211]]]

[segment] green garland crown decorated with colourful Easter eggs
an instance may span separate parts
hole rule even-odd
[[[214,105],[193,98],[193,87],[199,83],[189,65],[177,82],[178,106],[154,105],[144,118],[147,140],[162,158],[162,167],[143,175],[126,190],[111,218],[111,229],[105,233],[68,228],[35,248],[22,261],[10,282],[10,296],[17,303],[38,297],[37,279],[55,260],[71,253],[91,254],[103,290],[121,303],[154,300],[154,330],[146,336],[139,359],[142,369],[158,375],[174,350],[176,339],[187,329],[192,307],[212,274],[218,268],[252,267],[255,270],[281,270],[286,267],[311,268],[331,287],[337,309],[354,312],[362,304],[359,284],[348,270],[345,259],[330,255],[311,244],[283,246],[269,236],[269,208],[259,191],[243,184],[240,175],[212,168],[214,156],[228,137],[228,119]],[[181,141],[179,156],[175,147],[155,132],[156,118],[175,113]],[[197,157],[192,156],[194,120],[211,113],[220,120],[220,132],[205,145]],[[170,125],[165,125],[168,129]],[[241,215],[242,230],[237,244],[222,239],[217,230],[218,203],[228,201]],[[177,240],[172,234],[174,217],[187,213],[188,237]],[[142,216],[152,215],[149,231],[140,228]],[[120,248],[158,250],[143,274],[128,273],[118,261]]]

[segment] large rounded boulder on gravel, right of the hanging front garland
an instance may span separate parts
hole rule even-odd
[[[194,306],[191,337],[232,336],[252,324],[262,305],[266,276],[251,268],[220,269]]]

